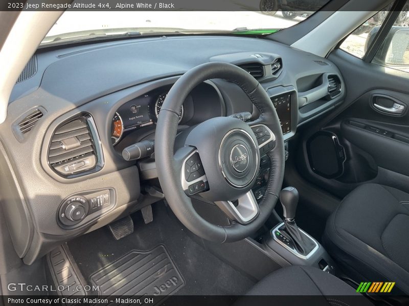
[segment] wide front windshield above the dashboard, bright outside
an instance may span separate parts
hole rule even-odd
[[[261,2],[277,0],[261,0]],[[322,1],[320,1],[322,5]],[[314,11],[66,11],[42,44],[117,35],[194,33],[270,34],[291,27]],[[254,31],[258,30],[258,31]]]

